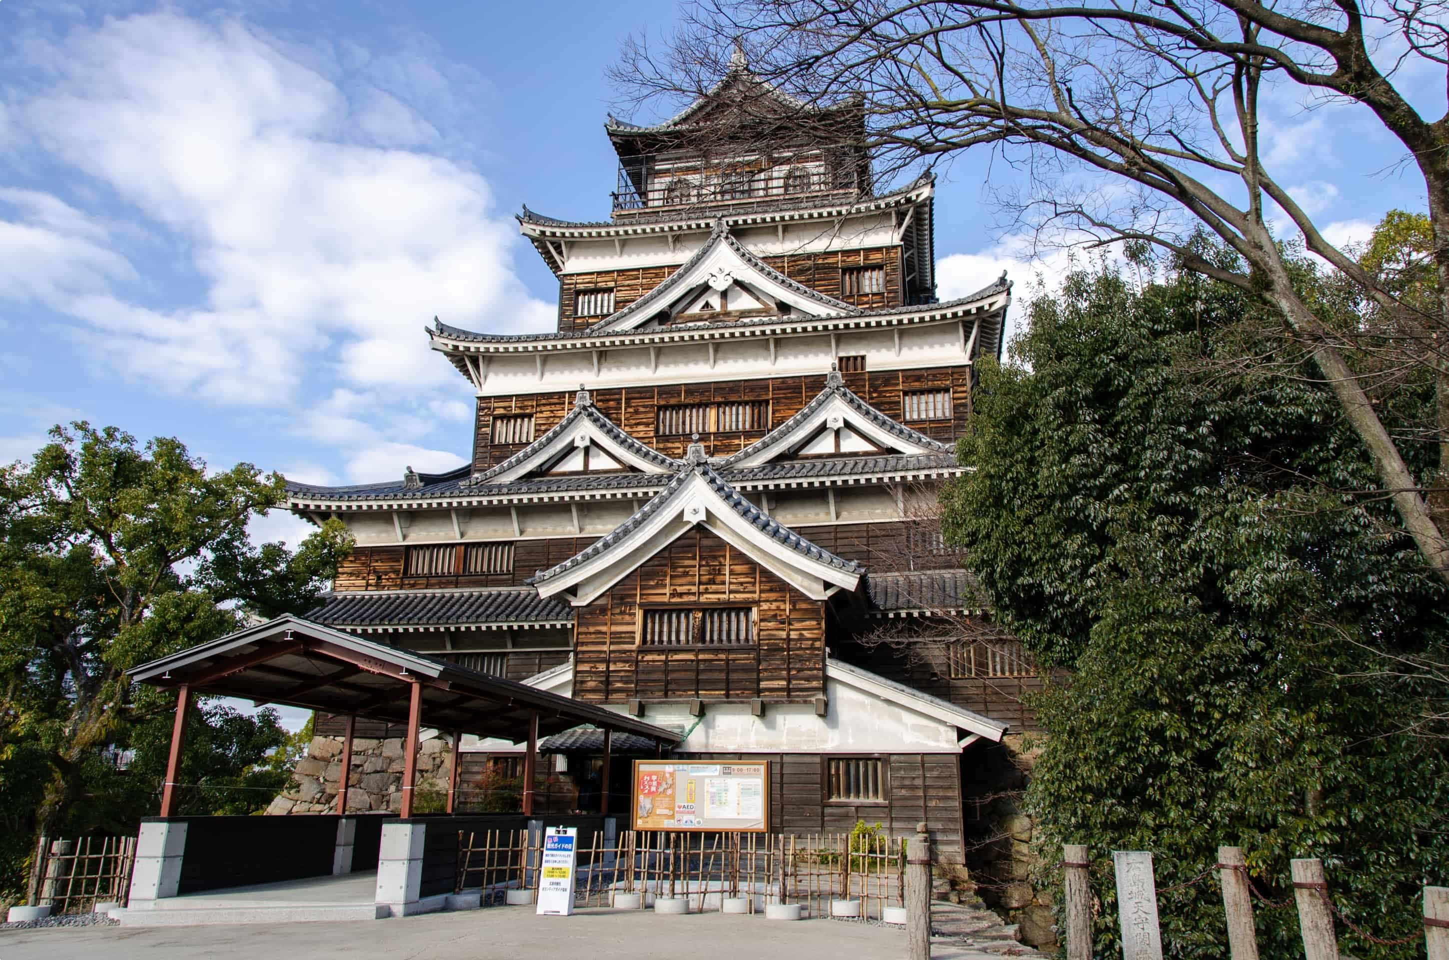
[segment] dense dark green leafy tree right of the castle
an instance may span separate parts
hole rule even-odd
[[[1333,306],[1332,278],[1297,270]],[[1321,857],[1379,937],[1419,930],[1420,886],[1449,877],[1449,758],[1423,735],[1443,732],[1445,690],[1401,669],[1442,663],[1449,592],[1362,495],[1374,465],[1266,310],[1185,271],[1072,274],[1032,305],[1017,363],[982,371],[974,470],[945,496],[1003,624],[1065,669],[1036,703],[1027,805],[1045,863],[1061,843],[1094,853],[1098,956],[1120,948],[1110,850],[1153,851],[1164,889],[1240,845],[1271,898],[1290,858]],[[1381,415],[1433,403],[1426,377]],[[1161,908],[1172,956],[1226,956],[1213,877]],[[1293,909],[1259,905],[1258,925],[1265,956],[1301,954]],[[1339,932],[1358,957],[1421,950]]]

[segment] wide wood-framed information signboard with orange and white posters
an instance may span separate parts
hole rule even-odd
[[[769,761],[635,760],[635,829],[769,829]]]

